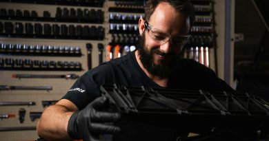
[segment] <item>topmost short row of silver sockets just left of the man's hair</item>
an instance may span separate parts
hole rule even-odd
[[[139,18],[143,18],[143,14],[119,14],[110,13],[109,23],[135,23],[137,24]]]

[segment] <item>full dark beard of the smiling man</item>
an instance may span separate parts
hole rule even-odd
[[[143,34],[141,35],[138,47],[140,61],[143,67],[145,67],[147,71],[150,72],[150,74],[159,76],[161,78],[168,78],[175,69],[176,63],[180,58],[179,54],[176,54],[174,52],[164,54],[157,47],[154,47],[150,49],[150,51],[148,51],[146,50],[145,42],[146,42],[146,36],[144,31]],[[166,56],[166,59],[161,60],[161,63],[157,65],[153,63],[154,54],[163,54]]]

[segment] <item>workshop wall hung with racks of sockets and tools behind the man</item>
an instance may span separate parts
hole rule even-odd
[[[138,1],[137,5],[134,2],[123,3],[122,1],[98,1],[95,3],[90,3],[90,1],[85,1],[85,3],[66,1],[57,4],[53,3],[53,0],[51,1],[39,1],[39,3],[0,2],[0,85],[31,86],[31,89],[35,89],[30,90],[28,87],[28,89],[19,90],[19,87],[0,87],[0,115],[12,114],[15,116],[14,118],[2,117],[3,119],[0,120],[1,140],[23,141],[38,138],[34,128],[39,120],[39,112],[41,113],[46,109],[42,102],[49,101],[53,104],[55,100],[59,100],[66,94],[66,91],[76,80],[71,78],[14,78],[14,74],[46,75],[47,77],[48,75],[61,76],[67,74],[81,76],[89,69],[87,44],[88,47],[92,47],[90,50],[91,67],[96,67],[103,61],[117,58],[120,49],[116,47],[117,45],[121,46],[121,55],[137,46],[137,23],[139,17],[143,17],[143,1]],[[42,2],[45,4],[42,4]],[[133,6],[127,6],[128,4]],[[210,19],[211,21],[200,21],[195,25],[196,28],[192,30],[195,39],[188,42],[184,54],[186,58],[195,59],[195,56],[190,55],[190,50],[195,50],[198,47],[200,51],[197,53],[201,54],[201,47],[204,48],[205,53],[206,47],[208,47],[208,60],[210,61],[208,67],[213,70],[215,70],[215,47],[217,46],[215,44],[215,21],[213,20],[215,15],[212,12],[212,6],[214,5],[212,1],[208,2],[206,0],[197,3],[197,13],[200,14],[197,16],[197,20],[200,18]],[[64,8],[66,9],[64,10]],[[84,12],[91,10],[95,12],[101,10],[101,15],[87,21],[87,18],[77,15],[79,8],[82,15],[85,15]],[[70,15],[71,9],[74,9],[77,18],[81,19],[65,17],[63,13],[68,10]],[[14,14],[12,14],[12,10]],[[21,10],[22,17],[17,17],[17,13],[19,14],[17,10]],[[28,10],[30,17],[28,12],[25,12],[26,10]],[[32,17],[32,11],[36,12],[37,17]],[[61,17],[57,17],[59,11],[61,11]],[[89,18],[93,17],[90,14],[87,15]],[[103,20],[97,17],[103,17]],[[14,26],[12,32],[10,32],[10,28],[6,28],[10,26],[10,22]],[[19,23],[23,25],[22,32]],[[26,23],[33,25],[32,34],[26,33]],[[42,32],[38,32],[40,29],[34,31],[35,23],[41,24]],[[45,30],[44,27],[48,25],[51,29],[47,28]],[[59,34],[54,33],[53,25],[59,25]],[[63,33],[61,25],[66,25],[68,33]],[[70,28],[70,25],[74,25],[74,27]],[[84,27],[87,26],[90,30],[87,30],[88,28],[85,30]],[[93,31],[92,26],[97,28],[97,32],[91,32],[94,36],[87,34]],[[82,30],[77,27],[82,27]],[[48,29],[51,32],[48,32]],[[86,31],[86,33],[83,33],[83,31]],[[99,34],[101,31],[103,31],[103,34]],[[25,51],[23,47],[28,51]],[[100,50],[100,47],[103,47],[103,50]],[[76,48],[81,54],[76,54]],[[65,50],[68,53],[64,53]],[[112,55],[108,50],[111,51]],[[192,53],[195,54],[195,51]],[[197,61],[201,63],[201,56],[196,57]],[[32,65],[28,65],[27,61],[32,62]],[[77,63],[80,65],[75,65]],[[37,90],[40,89],[39,86],[52,87],[52,89]],[[26,105],[11,103],[12,105],[4,106],[4,102],[21,102],[20,104],[28,102],[28,105],[27,103]],[[32,119],[30,113],[32,113]],[[25,115],[23,116],[23,114]],[[19,120],[20,117],[21,121]]]

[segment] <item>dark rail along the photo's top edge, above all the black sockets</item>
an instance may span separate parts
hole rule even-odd
[[[103,0],[90,0],[88,2],[78,1],[59,1],[59,0],[0,0],[0,2],[10,3],[30,3],[30,4],[45,4],[45,5],[57,5],[57,6],[87,6],[87,7],[103,7]]]

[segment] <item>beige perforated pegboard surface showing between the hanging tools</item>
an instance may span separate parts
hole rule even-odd
[[[106,0],[103,3],[102,7],[91,7],[91,6],[62,6],[62,5],[44,5],[38,3],[9,3],[9,2],[0,2],[0,8],[5,8],[6,10],[35,10],[39,17],[43,15],[43,11],[50,12],[51,17],[57,13],[57,8],[71,8],[77,9],[81,8],[88,10],[102,10],[104,21],[102,23],[86,23],[86,22],[73,22],[73,21],[21,21],[13,19],[0,19],[1,22],[21,22],[24,25],[26,23],[40,23],[44,24],[59,24],[59,25],[88,25],[88,26],[101,26],[104,28],[104,37],[99,40],[86,40],[86,39],[40,39],[40,38],[11,38],[9,36],[0,36],[0,43],[4,44],[21,44],[21,45],[52,45],[52,46],[61,46],[61,47],[79,47],[81,49],[81,56],[32,56],[32,55],[12,55],[12,54],[0,54],[0,58],[12,58],[12,59],[31,59],[31,60],[40,60],[40,61],[78,61],[81,63],[83,70],[81,71],[20,71],[20,70],[0,70],[0,85],[10,85],[10,86],[52,86],[52,90],[43,91],[43,90],[8,90],[0,91],[0,102],[1,101],[34,101],[36,105],[33,106],[0,106],[0,114],[12,113],[15,114],[15,118],[8,118],[0,120],[0,127],[35,127],[37,120],[31,121],[29,113],[32,111],[43,111],[46,107],[41,105],[43,100],[59,100],[68,89],[72,86],[75,80],[64,79],[64,78],[12,78],[13,74],[77,74],[81,76],[88,70],[88,60],[87,60],[87,48],[86,44],[92,44],[92,67],[99,65],[99,50],[98,44],[103,44],[103,61],[108,61],[106,54],[106,47],[111,43],[113,37],[110,32],[110,14],[130,14],[132,16],[138,15],[140,13],[128,13],[128,12],[110,12],[109,8],[115,6],[115,1]],[[142,14],[143,15],[143,14]],[[117,23],[114,23],[117,24]],[[137,25],[137,23],[131,23],[132,25]],[[122,23],[121,23],[122,25]],[[209,50],[210,58],[210,67],[215,69],[215,53],[214,49],[210,48]],[[23,123],[19,122],[19,109],[26,109],[26,116]],[[34,130],[31,131],[0,131],[0,140],[34,140],[38,138],[37,132]]]

